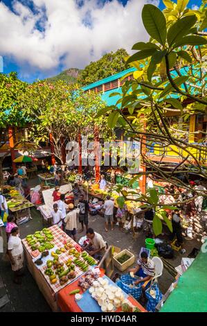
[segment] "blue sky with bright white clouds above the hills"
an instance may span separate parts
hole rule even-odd
[[[32,83],[147,41],[141,10],[162,0],[0,0],[3,73]],[[189,8],[201,0],[190,0]],[[1,59],[1,57],[0,57]],[[1,60],[0,60],[1,66]],[[0,67],[1,69],[1,67]]]

